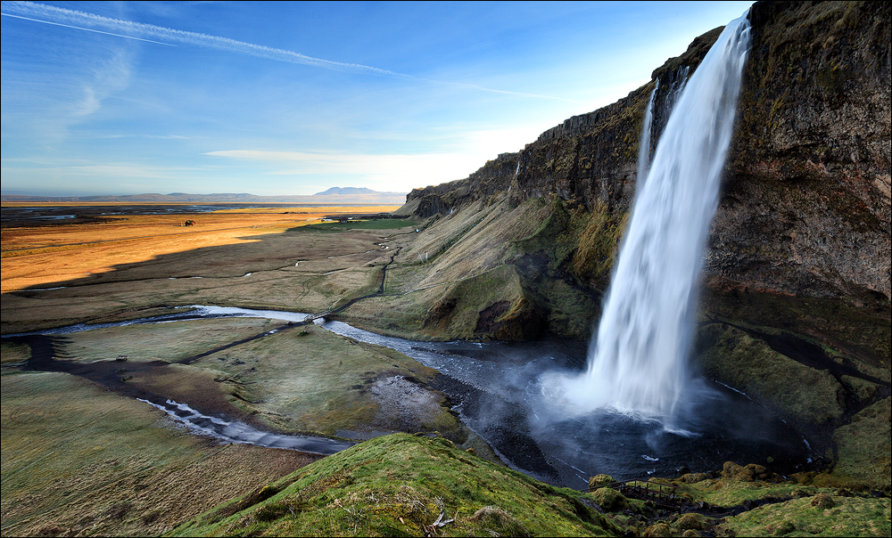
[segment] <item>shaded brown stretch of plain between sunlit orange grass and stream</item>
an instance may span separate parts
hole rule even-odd
[[[0,331],[10,334],[78,322],[120,321],[143,317],[146,310],[163,306],[324,310],[333,301],[372,291],[373,284],[380,288],[379,283],[366,280],[376,265],[390,261],[393,250],[381,243],[409,233],[405,228],[388,227],[405,224],[402,219],[386,219],[388,226],[369,223],[370,229],[350,224],[244,233],[235,238],[244,242],[197,249],[188,249],[188,241],[183,240],[181,251],[117,265],[103,264],[103,260],[113,259],[121,249],[128,249],[127,244],[105,246],[95,253],[97,268],[82,278],[4,292]],[[59,229],[65,231],[64,225]],[[138,249],[140,244],[130,248]],[[177,246],[164,244],[166,249]],[[66,252],[58,253],[62,266]],[[16,257],[9,260],[15,263]],[[21,263],[27,261],[21,259]],[[6,265],[4,258],[4,269]],[[32,275],[52,275],[54,270],[29,267]]]

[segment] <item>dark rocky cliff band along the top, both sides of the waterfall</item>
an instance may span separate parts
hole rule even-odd
[[[757,3],[750,19],[752,47],[706,274],[856,306],[888,303],[889,8]],[[420,199],[418,216],[443,215],[510,189],[516,201],[556,194],[570,207],[627,211],[650,92],[658,81],[653,151],[675,94],[720,30],[695,39],[624,99],[567,119],[465,180],[417,189],[409,203]]]

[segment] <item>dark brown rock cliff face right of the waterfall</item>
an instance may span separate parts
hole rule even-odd
[[[706,272],[889,298],[890,34],[880,3],[756,4]]]

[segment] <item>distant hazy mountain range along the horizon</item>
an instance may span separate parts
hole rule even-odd
[[[4,202],[169,202],[169,203],[293,203],[293,204],[376,204],[402,205],[406,202],[404,192],[378,192],[365,187],[332,187],[327,191],[312,195],[291,196],[257,196],[247,192],[188,194],[186,192],[170,192],[169,194],[146,193],[127,194],[123,196],[20,196],[15,194],[0,195]]]

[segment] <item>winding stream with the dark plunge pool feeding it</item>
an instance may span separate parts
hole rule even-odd
[[[230,344],[263,338],[289,326],[304,324],[308,314],[271,310],[249,310],[223,306],[194,306],[186,313],[168,314],[127,322],[78,324],[3,338],[39,337],[35,342],[63,338],[65,334],[136,323],[178,322],[202,318],[257,317],[285,322],[277,329]],[[543,374],[581,372],[586,358],[586,344],[557,338],[537,342],[417,342],[359,330],[343,322],[314,322],[319,327],[342,336],[387,346],[442,373],[434,388],[450,396],[453,408],[469,428],[482,436],[500,457],[514,469],[541,480],[584,488],[588,478],[609,474],[615,478],[674,476],[679,469],[706,471],[721,469],[724,461],[764,462],[771,458],[776,469],[792,472],[811,461],[811,451],[804,437],[761,405],[729,387],[711,384],[714,398],[691,410],[689,419],[667,428],[657,420],[640,420],[620,412],[601,411],[585,416],[563,418],[548,416],[552,406],[543,400]],[[48,344],[47,344],[48,345]],[[210,350],[199,356],[219,351]],[[34,370],[69,371],[98,382],[120,378],[113,371],[120,363],[93,363],[87,375],[78,364],[54,361],[52,353],[40,363],[35,357],[47,355],[32,346]],[[108,371],[96,373],[105,364]],[[167,363],[127,363],[128,368],[162,368]],[[81,365],[82,367],[82,365]],[[104,377],[103,377],[104,376]],[[126,383],[111,383],[117,392]],[[280,436],[262,431],[242,420],[209,416],[196,412],[189,402],[158,401],[145,395],[139,398],[164,410],[174,420],[198,434],[210,435],[235,443],[293,448],[306,452],[334,453],[350,443],[310,436]]]

